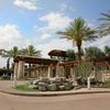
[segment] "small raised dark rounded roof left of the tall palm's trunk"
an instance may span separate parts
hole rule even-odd
[[[67,52],[61,50],[53,50],[48,53],[50,56],[63,56],[67,57]]]

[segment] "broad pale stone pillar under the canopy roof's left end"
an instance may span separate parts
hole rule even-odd
[[[19,68],[18,68],[18,79],[24,78],[24,62],[19,62]]]

